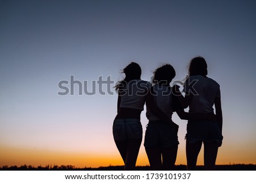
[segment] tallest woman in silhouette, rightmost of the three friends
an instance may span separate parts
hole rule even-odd
[[[189,106],[189,113],[214,113],[217,122],[212,119],[189,119],[186,134],[187,169],[195,170],[197,156],[204,143],[204,166],[214,170],[218,147],[222,144],[222,110],[220,85],[207,77],[207,63],[203,57],[191,60],[183,92],[185,98],[179,97],[184,108]]]

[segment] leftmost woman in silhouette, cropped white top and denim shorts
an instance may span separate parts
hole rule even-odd
[[[123,73],[125,78],[115,86],[118,103],[113,137],[125,163],[125,170],[134,170],[142,142],[141,112],[150,83],[141,80],[141,67],[137,63],[127,65]]]

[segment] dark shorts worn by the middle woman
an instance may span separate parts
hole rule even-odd
[[[145,133],[144,147],[172,147],[179,144],[177,133],[166,121],[150,121]]]

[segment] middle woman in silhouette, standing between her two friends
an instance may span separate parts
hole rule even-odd
[[[179,126],[172,121],[172,111],[177,103],[170,87],[174,77],[175,70],[170,64],[156,69],[154,85],[146,97],[148,125],[144,147],[152,170],[172,170],[176,161]],[[183,109],[182,106],[180,108]]]

